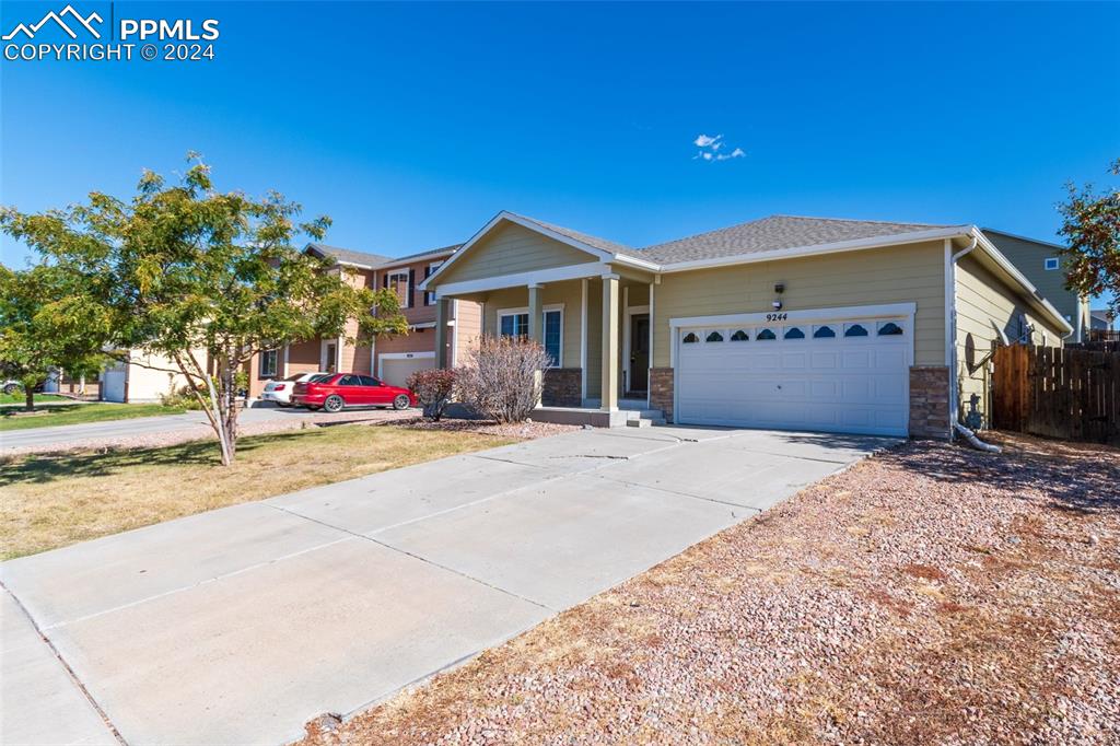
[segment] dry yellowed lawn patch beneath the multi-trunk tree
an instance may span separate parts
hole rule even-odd
[[[211,441],[18,456],[0,460],[0,559],[507,442],[352,425],[244,438],[228,468]]]

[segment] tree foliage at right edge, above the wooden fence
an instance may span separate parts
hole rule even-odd
[[[1120,176],[1120,159],[1110,172]],[[1077,189],[1067,185],[1068,201],[1058,205],[1065,218],[1058,233],[1068,248],[1062,251],[1066,263],[1066,287],[1083,296],[1112,293],[1112,313],[1120,313],[1120,189],[1100,194],[1092,185]]]

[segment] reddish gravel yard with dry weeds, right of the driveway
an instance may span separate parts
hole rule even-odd
[[[911,442],[311,744],[1120,743],[1120,450]]]

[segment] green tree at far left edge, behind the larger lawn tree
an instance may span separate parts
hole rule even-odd
[[[52,372],[96,371],[105,356],[109,315],[87,278],[54,264],[0,265],[0,379],[19,381],[28,411]]]

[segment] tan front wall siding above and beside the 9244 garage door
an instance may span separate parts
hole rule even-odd
[[[654,289],[654,367],[669,366],[669,320],[771,310],[915,302],[914,364],[945,364],[944,244],[940,241],[662,276]]]

